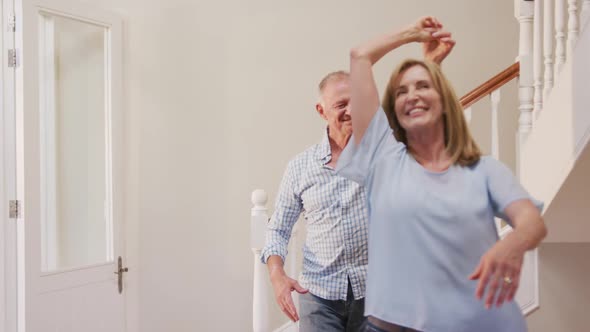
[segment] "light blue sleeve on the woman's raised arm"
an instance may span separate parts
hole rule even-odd
[[[375,162],[384,155],[386,149],[395,149],[401,145],[393,136],[385,111],[379,107],[360,144],[355,144],[352,134],[338,159],[336,172],[364,186]]]

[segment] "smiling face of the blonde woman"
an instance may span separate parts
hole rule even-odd
[[[412,66],[402,74],[395,94],[395,114],[408,135],[443,125],[440,94],[428,71]]]

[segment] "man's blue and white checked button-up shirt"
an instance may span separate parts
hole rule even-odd
[[[348,280],[355,299],[365,296],[368,219],[365,191],[327,166],[332,159],[327,133],[289,162],[268,224],[264,263],[287,256],[293,225],[303,213],[303,287],[326,300],[346,300]]]

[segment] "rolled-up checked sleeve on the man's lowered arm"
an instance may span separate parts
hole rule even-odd
[[[264,264],[272,255],[280,256],[283,262],[287,257],[287,247],[293,225],[295,225],[303,211],[301,197],[297,194],[296,180],[296,163],[291,161],[281,180],[279,193],[275,201],[275,210],[266,229],[266,244],[261,254],[261,260]]]

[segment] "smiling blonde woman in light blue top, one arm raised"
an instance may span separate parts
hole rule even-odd
[[[404,61],[381,109],[372,66],[409,42],[452,39],[425,17],[350,57],[354,134],[337,170],[368,193],[367,330],[526,331],[512,299],[525,252],[546,235],[539,207],[506,166],[481,156],[439,66]],[[514,227],[502,240],[495,215]]]

